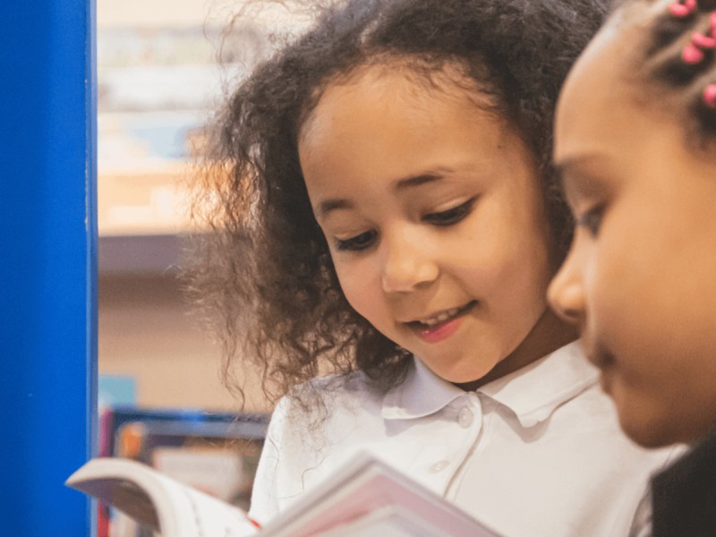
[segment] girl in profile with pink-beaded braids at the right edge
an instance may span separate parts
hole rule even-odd
[[[576,231],[550,301],[626,434],[693,446],[652,482],[655,536],[716,535],[715,55],[716,2],[620,2],[558,105]]]

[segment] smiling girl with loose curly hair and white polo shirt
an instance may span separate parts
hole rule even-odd
[[[287,393],[252,516],[367,450],[506,535],[641,528],[669,451],[620,433],[546,300],[571,238],[553,109],[602,11],[348,0],[235,90],[196,284]]]

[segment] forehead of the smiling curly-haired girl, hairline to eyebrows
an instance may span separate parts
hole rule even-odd
[[[392,197],[414,192],[399,185],[425,183],[413,178],[474,185],[506,166],[532,170],[530,150],[479,98],[456,87],[426,91],[399,71],[370,70],[328,87],[298,139],[311,200],[382,196],[386,186]]]

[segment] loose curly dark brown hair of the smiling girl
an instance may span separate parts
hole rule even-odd
[[[607,1],[348,0],[260,64],[218,117],[194,203],[213,233],[193,251],[191,285],[220,314],[227,374],[239,357],[258,364],[271,399],[328,371],[362,371],[377,389],[405,378],[407,351],[345,300],[297,152],[322,91],[362,65],[399,59],[428,78],[458,66],[472,79],[540,163],[564,255],[572,222],[550,167],[555,103]]]

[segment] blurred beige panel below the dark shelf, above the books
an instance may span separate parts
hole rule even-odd
[[[98,338],[100,374],[134,377],[140,405],[237,409],[221,384],[219,349],[173,277],[100,277]],[[246,410],[265,410],[260,399]]]

